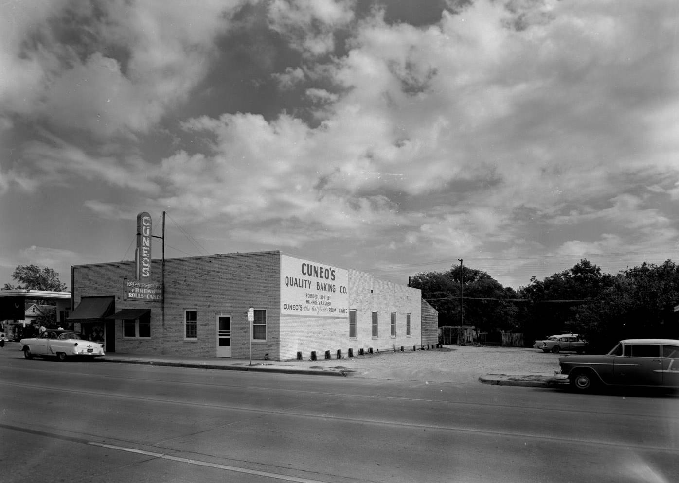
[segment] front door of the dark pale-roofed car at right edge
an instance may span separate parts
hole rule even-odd
[[[613,367],[615,384],[659,386],[663,384],[660,344],[625,344]]]

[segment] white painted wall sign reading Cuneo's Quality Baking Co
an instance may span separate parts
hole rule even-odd
[[[280,256],[280,314],[349,317],[349,271]]]

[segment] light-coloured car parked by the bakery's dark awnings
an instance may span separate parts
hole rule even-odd
[[[104,346],[98,342],[88,341],[87,337],[73,330],[45,330],[39,337],[21,339],[21,350],[24,358],[34,355],[53,355],[58,360],[79,356],[96,358],[104,355]]]

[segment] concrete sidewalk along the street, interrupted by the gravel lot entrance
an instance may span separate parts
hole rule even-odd
[[[172,355],[138,355],[123,353],[108,353],[102,362],[117,362],[118,364],[147,364],[149,366],[175,366],[200,369],[241,370],[254,372],[279,372],[285,374],[314,374],[321,376],[352,376],[361,374],[360,370],[352,370],[341,366],[314,366],[313,362],[305,364],[294,361],[262,361],[232,358],[189,358]],[[559,385],[553,380],[553,374],[485,374],[479,376],[479,383],[490,385],[509,385],[527,387],[555,387]]]

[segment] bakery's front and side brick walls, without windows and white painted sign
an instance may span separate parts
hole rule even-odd
[[[151,339],[124,338],[122,321],[109,322],[115,324],[115,351],[120,353],[213,357],[217,354],[217,315],[221,314],[231,317],[232,357],[247,359],[249,307],[264,309],[267,318],[266,341],[252,344],[255,360],[263,359],[265,353],[272,360],[285,360],[295,358],[297,351],[305,359],[311,351],[316,351],[318,358],[331,351],[335,358],[337,349],[346,357],[349,348],[358,355],[361,348],[385,351],[403,345],[411,350],[427,343],[420,329],[420,290],[359,271],[349,271],[349,308],[356,310],[355,338],[349,337],[348,317],[280,315],[280,257],[276,251],[167,259],[164,313],[160,302],[123,300],[124,279],[134,279],[133,262],[79,265],[73,267],[74,307],[84,296],[114,296],[115,311],[151,309]],[[153,260],[151,273],[151,279],[160,282],[160,260]],[[184,336],[187,309],[198,313],[196,339]],[[373,311],[378,312],[377,337],[371,333]],[[396,336],[390,335],[392,312],[396,314]],[[411,317],[409,336],[405,335],[406,314]]]

